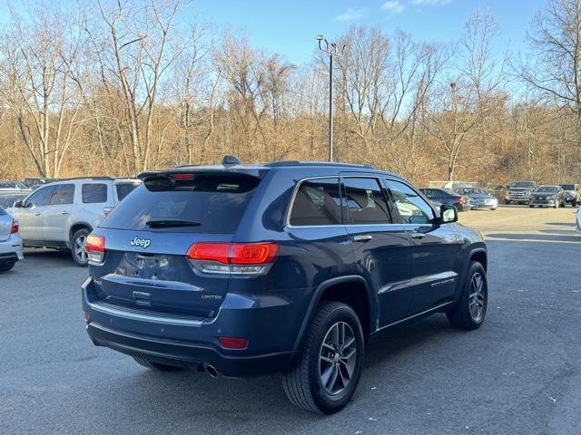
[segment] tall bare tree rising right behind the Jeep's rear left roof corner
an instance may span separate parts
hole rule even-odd
[[[139,171],[150,165],[153,116],[163,74],[183,50],[182,45],[172,44],[179,1],[148,0],[135,7],[97,0],[97,5],[106,38],[98,36],[99,27],[91,35],[97,40],[103,86],[113,95],[121,90],[132,169]]]

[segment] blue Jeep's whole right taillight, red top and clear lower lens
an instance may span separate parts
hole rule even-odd
[[[216,275],[263,275],[279,252],[276,243],[194,243],[187,256],[192,266]]]

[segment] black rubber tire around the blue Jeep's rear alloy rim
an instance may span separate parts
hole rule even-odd
[[[330,345],[326,344],[324,346],[323,344],[326,339],[334,336],[331,333],[331,331],[335,331],[333,328],[340,328],[341,324],[343,324],[343,344],[345,344],[345,341],[352,340],[354,348],[348,346],[347,349],[341,349],[338,353],[339,356],[336,357],[337,359],[334,359],[335,353],[329,353],[334,352],[329,350]],[[337,331],[339,332],[340,329]],[[331,335],[329,335],[330,333]],[[347,338],[348,336],[349,338]],[[300,360],[295,362],[288,372],[283,373],[282,386],[292,404],[306,411],[325,414],[332,414],[342,410],[350,401],[359,383],[363,362],[363,345],[363,331],[359,318],[349,305],[338,302],[323,302],[320,304],[309,330],[306,332]],[[343,361],[343,358],[347,355],[343,351],[349,352],[355,358],[355,361],[349,362],[348,359],[346,359],[346,362]],[[323,353],[327,354],[323,355]],[[333,357],[330,357],[330,355],[333,355]],[[330,357],[330,365],[322,370],[321,373],[322,367],[320,363],[323,360],[320,360],[320,357],[323,356],[325,358]],[[333,368],[333,364],[335,368]],[[351,364],[350,367],[352,369],[350,376],[348,364]],[[330,387],[328,385],[323,386],[323,381],[321,380],[327,370],[330,370],[330,374],[327,377]],[[345,374],[348,374],[348,376],[345,376]],[[345,378],[349,378],[346,383],[343,381]],[[331,379],[336,381],[331,382]],[[341,383],[342,389],[332,391],[336,386],[336,382]],[[329,388],[331,391],[328,391]]]

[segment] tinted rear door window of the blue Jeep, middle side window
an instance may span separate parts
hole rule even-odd
[[[350,224],[389,224],[388,205],[377,179],[343,179]]]

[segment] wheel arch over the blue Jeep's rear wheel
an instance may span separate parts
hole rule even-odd
[[[338,276],[322,282],[313,291],[307,314],[305,314],[294,344],[294,350],[300,349],[304,334],[321,301],[335,301],[349,305],[359,317],[365,340],[369,339],[373,319],[377,315],[376,310],[371,305],[369,285],[365,278],[360,275]]]

